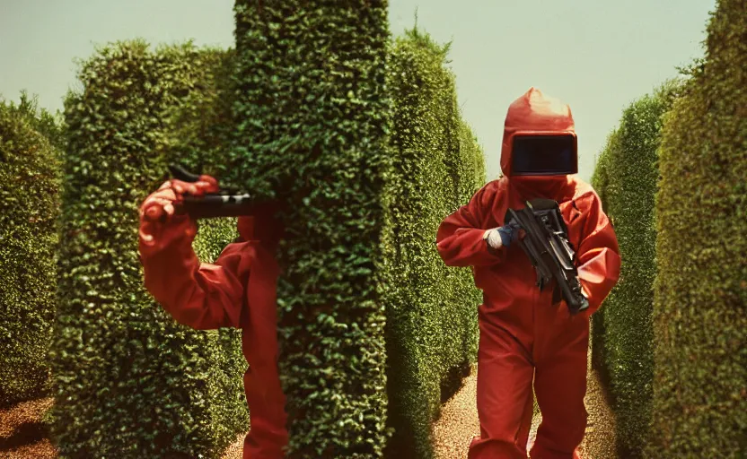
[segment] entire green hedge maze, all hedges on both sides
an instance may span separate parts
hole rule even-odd
[[[241,331],[147,293],[138,206],[166,165],[276,201],[287,456],[434,456],[477,355],[481,294],[435,232],[486,182],[448,45],[391,37],[384,1],[237,0],[235,48],[110,43],[64,118],[0,101],[0,407],[55,399],[60,457],[222,457],[250,428]],[[741,457],[747,15],[631,102],[593,174],[620,282],[593,316],[620,457]],[[235,219],[200,221],[215,260]]]

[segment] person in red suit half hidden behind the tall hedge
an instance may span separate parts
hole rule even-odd
[[[278,266],[275,248],[282,227],[273,206],[238,219],[240,238],[224,248],[215,264],[200,263],[192,250],[197,224],[175,214],[184,195],[218,191],[215,178],[196,183],[170,180],[140,207],[139,250],[145,288],[173,318],[197,330],[241,328],[249,363],[244,389],[251,429],[244,459],[279,459],[288,441],[285,395],[277,370]]]

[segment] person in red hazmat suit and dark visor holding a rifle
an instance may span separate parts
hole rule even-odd
[[[505,117],[504,176],[483,186],[469,204],[440,225],[436,244],[444,263],[472,266],[483,290],[479,306],[477,403],[480,435],[470,459],[526,458],[532,423],[532,380],[542,422],[532,459],[580,457],[587,413],[589,318],[620,276],[620,251],[593,188],[576,177],[576,133],[570,108],[532,88]],[[540,291],[530,259],[505,225],[509,208],[527,200],[558,202],[576,249],[589,307],[571,316],[565,302]]]

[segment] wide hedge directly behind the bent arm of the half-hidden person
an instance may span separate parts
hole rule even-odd
[[[209,160],[220,160],[197,158],[205,145],[180,128],[207,126],[211,97],[222,119],[224,58],[189,43],[152,52],[119,42],[83,64],[83,90],[66,98],[50,352],[61,457],[217,457],[247,428],[236,333],[178,325],[145,291],[137,254],[137,208],[166,179],[165,164],[179,158],[210,172]],[[212,250],[204,255],[229,238],[221,222],[212,226],[196,244]]]

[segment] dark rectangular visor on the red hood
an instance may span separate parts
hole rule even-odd
[[[514,176],[567,175],[578,172],[573,135],[514,137],[511,173]]]

